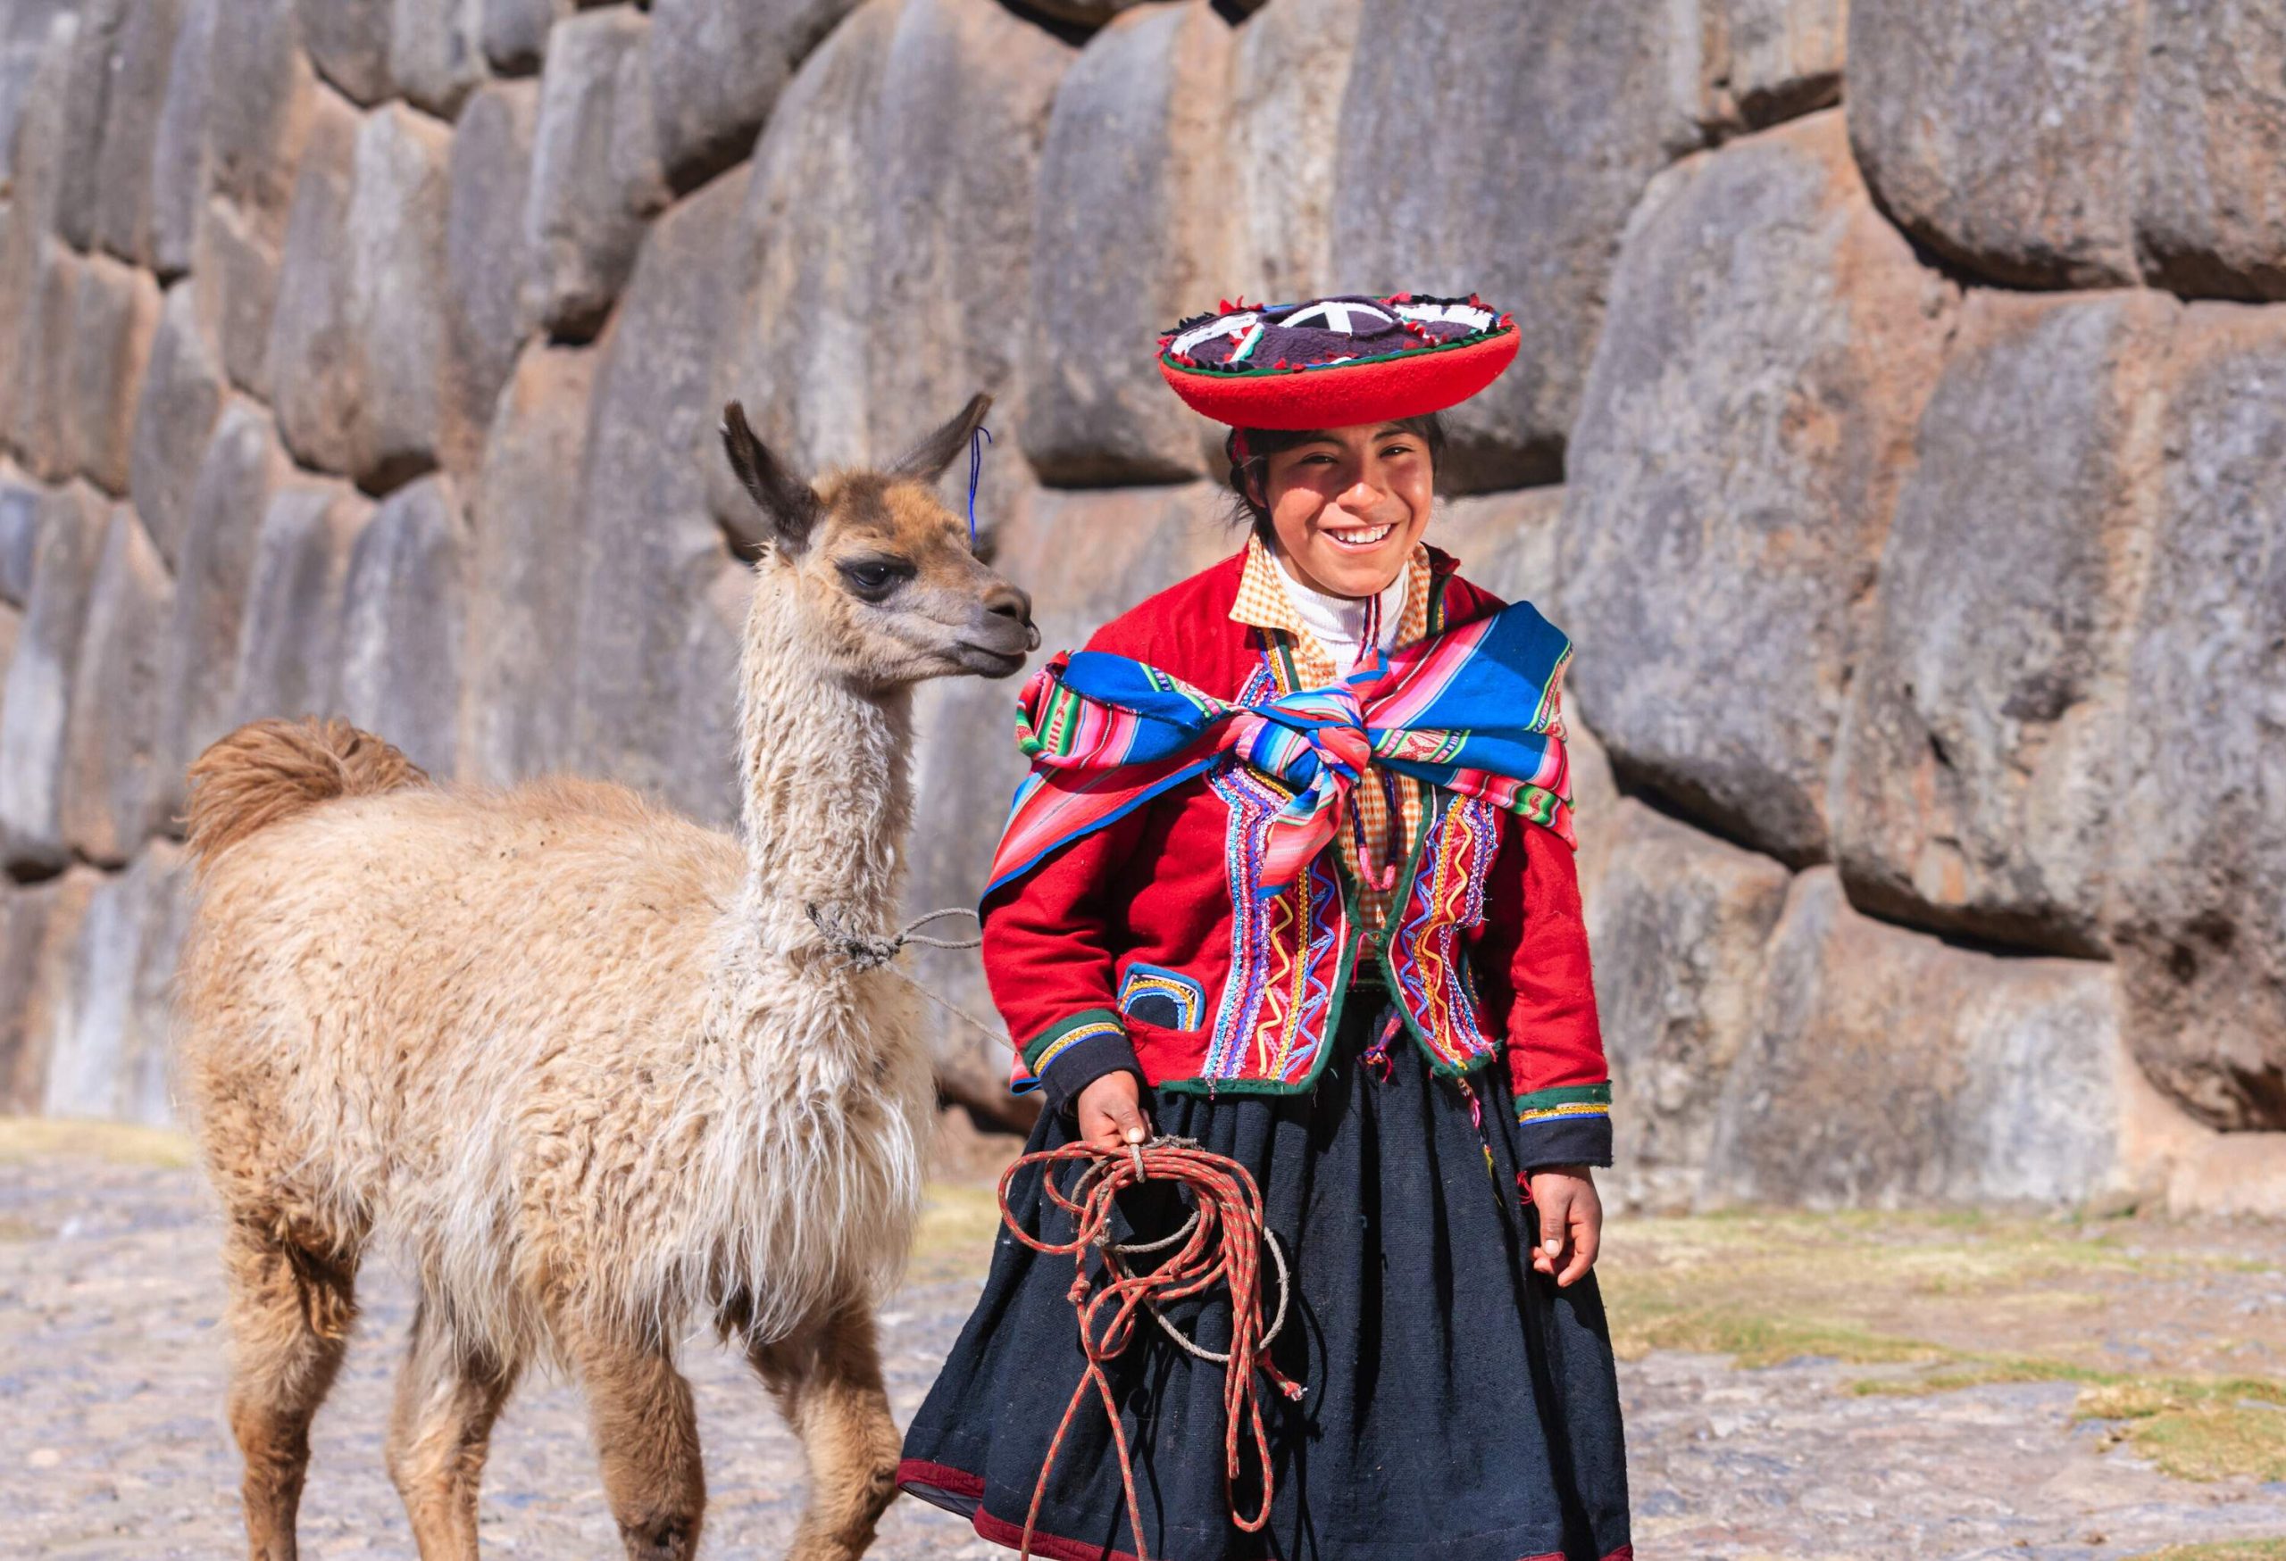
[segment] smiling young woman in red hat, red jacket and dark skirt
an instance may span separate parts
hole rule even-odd
[[[1232,1502],[1255,1511],[1260,1476],[1228,1488],[1223,1369],[1141,1328],[1113,1383],[1145,1534],[1090,1401],[1036,1554],[1630,1554],[1591,1273],[1612,1131],[1570,651],[1422,542],[1436,411],[1513,352],[1477,299],[1410,295],[1225,306],[1161,338],[1177,393],[1232,425],[1250,535],[1026,688],[1036,768],[985,971],[1017,1088],[1045,1090],[1033,1150],[1173,1134],[1253,1172],[1294,1278],[1271,1358],[1303,1396],[1266,1399],[1271,1515],[1246,1534]],[[1182,1218],[1152,1191],[1125,1195],[1136,1239]],[[1070,1239],[1036,1177],[1013,1211]],[[1070,1282],[1068,1257],[1001,1234],[905,1440],[901,1486],[990,1540],[1017,1543],[1086,1367]],[[1218,1300],[1177,1321],[1228,1342]]]

